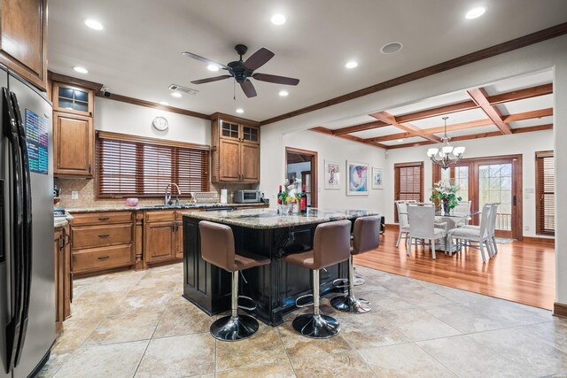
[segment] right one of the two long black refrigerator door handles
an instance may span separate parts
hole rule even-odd
[[[10,94],[12,98],[12,106],[14,116],[16,117],[16,124],[18,127],[19,135],[19,154],[21,158],[21,168],[22,168],[22,186],[23,186],[23,214],[24,214],[24,244],[23,244],[23,307],[21,314],[21,326],[19,331],[19,341],[18,349],[16,352],[15,366],[18,366],[19,359],[21,357],[21,351],[24,348],[24,343],[26,341],[27,334],[27,319],[29,315],[29,298],[31,295],[32,286],[32,245],[33,245],[33,234],[32,234],[32,187],[31,178],[29,173],[29,160],[27,156],[27,137],[26,137],[26,127],[24,126],[24,121],[22,120],[21,112],[19,111],[18,97],[15,93]]]

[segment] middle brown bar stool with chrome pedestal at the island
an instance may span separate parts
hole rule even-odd
[[[283,257],[289,264],[313,271],[313,313],[305,313],[293,320],[299,334],[323,339],[338,335],[338,321],[319,310],[319,269],[346,261],[350,254],[351,225],[349,220],[322,223],[315,228],[313,250]],[[298,298],[299,299],[299,298]]]

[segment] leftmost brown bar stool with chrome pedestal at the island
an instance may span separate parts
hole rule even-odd
[[[211,335],[222,341],[244,340],[254,335],[259,326],[252,316],[238,315],[238,272],[254,266],[268,265],[270,260],[250,252],[236,253],[234,235],[229,226],[202,220],[198,223],[198,229],[203,259],[232,273],[232,313],[214,321],[210,328]],[[255,307],[245,309],[254,310]]]

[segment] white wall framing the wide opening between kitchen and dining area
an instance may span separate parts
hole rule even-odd
[[[556,296],[557,302],[567,304],[567,198],[563,195],[567,192],[567,146],[564,145],[564,141],[567,141],[567,35],[262,127],[260,189],[271,193],[281,181],[284,172],[283,135],[291,131],[305,130],[325,122],[378,112],[402,104],[415,103],[423,98],[549,68],[553,68],[555,73],[553,134],[557,193]]]

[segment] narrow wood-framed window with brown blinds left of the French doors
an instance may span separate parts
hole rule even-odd
[[[394,190],[396,200],[423,202],[423,162],[395,164]],[[394,205],[395,221],[398,209]]]

